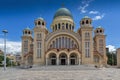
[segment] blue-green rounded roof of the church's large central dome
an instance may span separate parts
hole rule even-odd
[[[54,19],[58,16],[69,16],[73,18],[71,12],[67,8],[58,9],[54,15]]]

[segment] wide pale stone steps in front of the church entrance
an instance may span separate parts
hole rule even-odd
[[[41,71],[63,71],[63,70],[94,70],[96,69],[93,66],[88,65],[59,65],[59,66],[34,66],[32,68],[29,68],[28,70],[41,70]]]

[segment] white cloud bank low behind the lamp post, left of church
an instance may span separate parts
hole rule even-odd
[[[0,49],[4,51],[4,39],[0,38]],[[6,52],[7,53],[20,53],[21,52],[21,42],[16,41],[6,41]]]

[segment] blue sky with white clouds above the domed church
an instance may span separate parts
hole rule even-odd
[[[34,20],[42,17],[47,29],[55,12],[68,8],[75,21],[75,31],[84,16],[92,18],[95,28],[102,26],[106,35],[106,46],[110,51],[120,47],[120,0],[0,0],[0,49],[3,50],[2,30],[8,30],[7,52],[21,52],[22,31],[26,27],[34,28]]]

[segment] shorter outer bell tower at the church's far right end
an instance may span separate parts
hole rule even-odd
[[[99,26],[94,30],[94,45],[95,45],[95,50],[98,51],[102,56],[103,56],[103,65],[107,65],[107,57],[106,57],[106,35],[104,34],[104,29]]]

